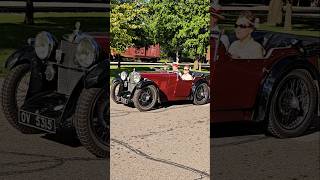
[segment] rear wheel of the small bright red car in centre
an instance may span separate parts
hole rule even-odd
[[[193,93],[193,104],[204,105],[209,102],[210,89],[206,83],[201,83],[196,87]]]

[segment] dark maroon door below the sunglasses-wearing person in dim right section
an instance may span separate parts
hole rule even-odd
[[[214,111],[252,108],[263,78],[264,61],[220,56],[213,63]]]

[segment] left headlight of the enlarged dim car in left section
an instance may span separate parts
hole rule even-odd
[[[41,43],[40,40],[44,40],[44,39],[40,39],[40,38],[46,38],[45,40],[47,42],[45,42],[45,45],[47,47],[43,47],[43,46],[39,45],[39,43]],[[42,42],[42,43],[44,43],[44,42]],[[47,31],[41,31],[40,33],[38,33],[35,37],[35,40],[34,40],[34,49],[35,49],[36,55],[41,60],[49,59],[51,57],[52,52],[54,51],[56,45],[57,45],[56,38],[50,32],[47,32]],[[40,48],[46,48],[47,52],[42,54],[43,52],[41,52],[41,51],[43,49],[40,49]]]

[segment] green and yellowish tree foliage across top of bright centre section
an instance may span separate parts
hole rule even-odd
[[[117,3],[111,13],[112,47],[159,43],[169,56],[176,52],[204,57],[209,44],[209,1],[140,0]]]

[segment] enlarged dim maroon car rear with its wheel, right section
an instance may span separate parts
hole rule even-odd
[[[211,122],[266,122],[277,137],[302,135],[319,116],[319,38],[267,31],[252,36],[266,50],[262,59],[233,59],[210,40]]]

